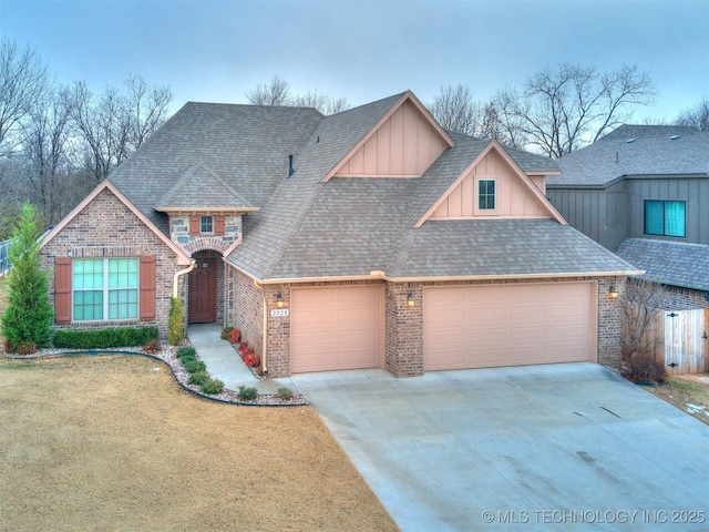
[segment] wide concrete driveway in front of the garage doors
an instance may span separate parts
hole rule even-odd
[[[600,366],[292,381],[403,531],[709,530],[709,427]]]

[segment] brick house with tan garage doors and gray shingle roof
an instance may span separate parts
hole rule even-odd
[[[640,272],[546,198],[552,160],[443,130],[411,92],[187,103],[42,244],[56,327],[239,327],[271,377],[618,364]]]

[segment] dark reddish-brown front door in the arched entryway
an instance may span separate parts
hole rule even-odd
[[[189,324],[213,324],[219,321],[219,283],[224,278],[222,254],[214,250],[197,252],[193,255],[195,267],[188,276],[187,321]],[[222,275],[220,275],[222,274]]]

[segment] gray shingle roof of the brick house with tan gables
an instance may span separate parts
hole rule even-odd
[[[331,116],[301,108],[188,103],[111,181],[165,233],[167,216],[155,206],[229,197],[260,207],[244,216],[243,243],[227,257],[259,279],[634,269],[552,219],[427,222],[414,229],[489,141],[452,133],[455,145],[420,178],[322,183],[403,94]],[[525,172],[557,167],[546,157],[508,153]],[[201,191],[191,183],[195,174],[209,186]]]

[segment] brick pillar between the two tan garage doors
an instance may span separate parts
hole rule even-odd
[[[423,285],[387,283],[384,301],[384,367],[394,377],[423,375]]]

